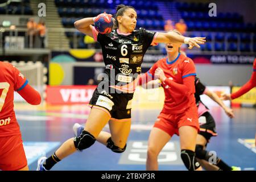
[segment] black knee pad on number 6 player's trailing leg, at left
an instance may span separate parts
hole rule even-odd
[[[80,136],[74,138],[74,144],[77,150],[89,148],[95,141],[96,138],[88,131],[82,131]]]

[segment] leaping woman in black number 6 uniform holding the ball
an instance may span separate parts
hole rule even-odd
[[[105,15],[112,18],[110,14]],[[200,47],[199,44],[205,42],[205,38],[185,38],[173,32],[150,32],[144,28],[135,30],[137,13],[131,6],[117,6],[116,28],[109,34],[100,34],[91,25],[96,18],[77,20],[75,27],[101,44],[106,65],[104,79],[90,100],[92,109],[84,130],[77,137],[66,140],[49,158],[40,158],[37,170],[51,169],[73,152],[89,148],[96,139],[113,152],[125,151],[131,126],[131,100],[148,47],[157,43],[179,42],[187,43],[192,48]],[[109,123],[111,134],[101,131],[106,123]]]

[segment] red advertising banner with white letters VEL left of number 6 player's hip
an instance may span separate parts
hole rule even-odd
[[[88,104],[96,85],[47,86],[48,104]]]

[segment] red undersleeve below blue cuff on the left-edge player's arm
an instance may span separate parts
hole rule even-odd
[[[32,86],[29,84],[17,92],[31,105],[39,105],[41,103],[41,96],[39,92],[32,88]]]

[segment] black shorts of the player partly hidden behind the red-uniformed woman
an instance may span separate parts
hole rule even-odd
[[[203,135],[207,142],[209,142],[210,137],[216,137],[218,134],[216,132],[216,125],[212,115],[209,112],[205,112],[199,117],[200,125],[200,135]]]

